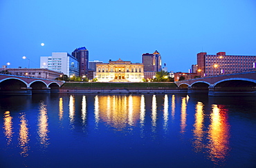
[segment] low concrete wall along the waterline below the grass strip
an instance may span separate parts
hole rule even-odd
[[[181,88],[61,88],[58,93],[71,94],[167,94],[187,93],[188,90]]]

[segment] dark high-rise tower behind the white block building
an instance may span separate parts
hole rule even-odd
[[[85,47],[76,48],[72,52],[72,56],[74,56],[79,63],[79,76],[86,75],[89,69],[89,51]]]

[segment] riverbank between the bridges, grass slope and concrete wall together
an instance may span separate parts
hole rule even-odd
[[[92,93],[92,94],[163,94],[186,93],[187,89],[178,88],[175,83],[65,83],[59,93]]]

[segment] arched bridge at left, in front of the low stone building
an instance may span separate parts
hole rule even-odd
[[[46,78],[0,74],[0,94],[22,94],[57,92],[64,81]]]

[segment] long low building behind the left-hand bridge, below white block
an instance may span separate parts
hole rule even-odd
[[[2,70],[4,69],[2,68]],[[63,75],[62,72],[56,72],[53,70],[48,70],[43,68],[6,68],[6,71],[14,75],[30,76],[35,78],[47,78],[51,80],[54,80],[55,78],[58,78],[61,75]]]

